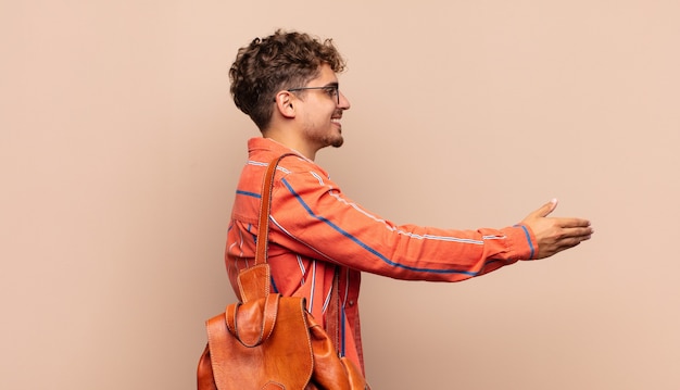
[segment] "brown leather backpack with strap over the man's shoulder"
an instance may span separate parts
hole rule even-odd
[[[206,322],[199,390],[369,389],[361,369],[338,356],[337,342],[307,313],[304,298],[269,291],[266,237],[272,186],[276,166],[286,155],[269,163],[264,178],[255,265],[238,276],[241,302]],[[328,313],[328,330],[336,338],[337,278]]]

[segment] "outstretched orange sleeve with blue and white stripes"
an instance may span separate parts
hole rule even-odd
[[[396,279],[458,281],[532,257],[526,226],[454,230],[395,225],[343,197],[318,171],[275,183],[269,239],[293,252]]]

